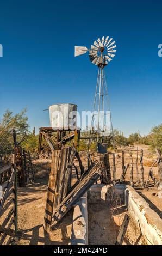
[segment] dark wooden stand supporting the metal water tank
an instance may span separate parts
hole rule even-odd
[[[57,132],[56,136],[52,132]],[[48,138],[52,142],[56,143],[56,149],[61,148],[61,144],[74,139],[74,147],[77,149],[80,139],[80,128],[79,127],[40,127],[39,131],[39,144],[38,154],[40,154],[42,147],[42,136]]]

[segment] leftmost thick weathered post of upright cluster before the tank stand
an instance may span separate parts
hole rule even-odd
[[[57,183],[57,175],[58,175],[59,157],[60,157],[60,150],[54,150],[52,152],[51,173],[49,174],[47,202],[46,202],[46,210],[45,210],[44,228],[47,232],[49,232],[49,230],[51,229],[55,186]]]

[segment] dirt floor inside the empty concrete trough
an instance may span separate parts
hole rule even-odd
[[[113,216],[107,202],[88,205],[89,245],[115,245],[125,214],[122,212]],[[130,216],[122,245],[146,245]]]

